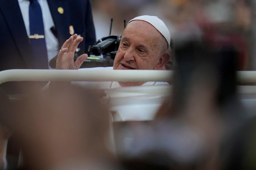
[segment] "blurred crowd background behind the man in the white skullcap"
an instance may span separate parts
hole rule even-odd
[[[174,45],[202,40],[218,48],[232,45],[239,70],[256,70],[254,0],[92,0],[97,39],[121,35],[124,20],[139,15],[158,16],[167,25]]]

